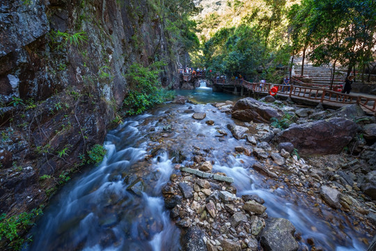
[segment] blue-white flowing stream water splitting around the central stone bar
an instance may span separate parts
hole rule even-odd
[[[238,98],[204,86],[185,95],[203,103]],[[207,117],[195,121],[189,108]],[[208,119],[214,126],[207,126]],[[324,250],[366,250],[361,226],[352,226],[347,215],[324,205],[318,211],[309,196],[254,172],[252,157],[233,155],[244,141],[217,137],[217,129],[230,135],[226,125],[231,122],[228,114],[209,104],[169,103],[127,119],[108,133],[103,162],[54,196],[31,231],[34,241],[24,250],[180,250],[180,230],[164,208],[161,188],[179,172],[176,162],[185,165],[198,148],[214,160],[214,172],[235,178],[238,196],[259,195],[270,217],[290,220],[301,234],[301,248],[309,247],[304,240],[313,238]],[[143,181],[141,195],[127,190],[136,178]]]

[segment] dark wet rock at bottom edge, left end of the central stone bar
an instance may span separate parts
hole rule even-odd
[[[182,248],[187,251],[207,251],[203,237],[204,232],[199,227],[189,227],[182,236]]]

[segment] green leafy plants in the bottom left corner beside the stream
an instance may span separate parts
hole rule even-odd
[[[0,215],[0,241],[6,241],[8,247],[13,250],[20,250],[24,243],[24,238],[19,236],[19,232],[34,225],[33,219],[42,214],[42,208],[34,208],[30,213],[20,213],[6,218],[6,214]],[[29,238],[27,241],[31,241]]]

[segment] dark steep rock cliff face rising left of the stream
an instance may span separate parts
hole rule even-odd
[[[162,22],[147,0],[1,1],[0,213],[38,207],[81,168],[122,105],[132,63],[165,61],[162,85],[178,83]]]

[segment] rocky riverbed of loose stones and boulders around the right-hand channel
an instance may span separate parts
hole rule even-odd
[[[347,222],[347,227],[363,232],[359,241],[368,245],[376,224],[375,118],[354,105],[328,111],[301,109],[272,97],[263,100],[213,104],[235,117],[228,124],[232,137],[246,139],[229,154],[253,156],[256,162],[249,172],[276,181],[270,190],[286,190],[285,197],[288,192],[303,195],[315,215],[338,228]],[[182,97],[175,102],[184,103]],[[192,113],[192,119],[205,119],[203,112]],[[276,117],[279,121],[271,125]],[[288,117],[286,123],[295,123],[283,128],[283,117]],[[206,123],[215,126],[216,121]],[[217,132],[219,141],[228,137],[221,128]],[[171,219],[184,230],[185,250],[326,250],[316,246],[315,238],[301,238],[290,221],[268,217],[258,195],[237,197],[233,178],[213,172],[215,162],[204,157],[210,155],[207,152],[196,147],[191,161],[185,167],[176,165],[180,172],[171,174],[162,188]],[[334,211],[342,218],[333,218]],[[314,224],[311,229],[317,231]],[[344,234],[335,235],[340,239]]]

